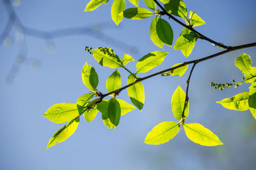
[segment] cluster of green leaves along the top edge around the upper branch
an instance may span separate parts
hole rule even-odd
[[[164,15],[163,12],[156,9],[156,3],[154,0],[144,0],[150,10],[146,8],[138,8],[138,0],[129,0],[137,8],[128,8],[125,10],[125,0],[114,0],[111,7],[111,17],[116,25],[118,25],[123,18],[129,18],[132,20],[140,20],[143,18],[151,17],[155,15],[150,25],[150,39],[156,46],[163,48],[163,45],[172,46],[173,43],[173,30],[171,25],[161,18]],[[177,17],[182,18],[189,27],[196,27],[205,24],[204,20],[200,18],[195,12],[189,11],[186,8],[185,3],[182,0],[161,0],[164,3],[165,10]],[[84,11],[92,11],[107,1],[92,0],[87,4]],[[188,57],[192,52],[196,39],[199,36],[193,31],[190,31],[186,27],[181,31],[180,37],[173,46],[174,50],[181,50],[185,57]]]

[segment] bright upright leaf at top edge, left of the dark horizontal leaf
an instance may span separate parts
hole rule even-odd
[[[114,0],[111,7],[111,17],[116,25],[118,25],[122,20],[123,16],[119,15],[125,9],[125,0]]]

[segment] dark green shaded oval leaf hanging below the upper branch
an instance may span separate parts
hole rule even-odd
[[[173,31],[171,25],[164,19],[159,18],[156,24],[157,36],[164,44],[172,46]]]

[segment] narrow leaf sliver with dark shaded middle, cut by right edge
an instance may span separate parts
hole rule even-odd
[[[248,98],[248,105],[249,109],[253,115],[253,117],[256,119],[256,81],[252,83],[250,86],[250,96]]]

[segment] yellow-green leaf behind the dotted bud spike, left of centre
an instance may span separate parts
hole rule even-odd
[[[93,57],[101,66],[107,66],[112,69],[122,67],[122,62],[118,55],[111,48],[99,47],[93,50]]]

